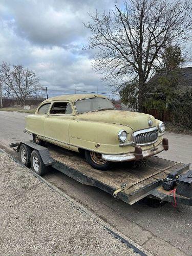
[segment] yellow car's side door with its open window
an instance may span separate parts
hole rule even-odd
[[[44,121],[45,138],[52,143],[69,147],[69,125],[73,118],[74,112],[70,102],[53,102]]]

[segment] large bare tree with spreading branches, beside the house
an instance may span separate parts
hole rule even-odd
[[[139,79],[139,111],[145,83],[161,64],[162,49],[182,45],[191,31],[191,0],[130,0],[124,9],[92,15],[85,49],[98,48],[94,66],[116,90]]]

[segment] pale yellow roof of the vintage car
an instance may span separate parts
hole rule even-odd
[[[106,96],[104,95],[99,95],[99,94],[68,94],[68,95],[60,95],[60,96],[56,96],[56,97],[52,97],[49,99],[44,100],[44,102],[47,101],[63,101],[63,100],[69,100],[74,102],[77,99],[87,99],[87,98],[106,98]]]

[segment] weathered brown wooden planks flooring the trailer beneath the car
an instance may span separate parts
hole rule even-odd
[[[145,179],[156,170],[164,170],[167,168],[166,173],[157,174],[154,177],[147,178],[135,184],[125,193],[132,194],[135,190],[142,189],[143,187],[156,182],[155,179],[163,179],[167,173],[173,172],[178,167],[182,167],[182,163],[175,163],[173,161],[161,159],[158,157],[150,157],[146,160],[146,166],[134,168],[129,162],[115,163],[112,170],[101,171],[92,168],[86,160],[76,152],[65,150],[58,146],[48,145],[51,157],[71,168],[75,168],[83,175],[92,177],[93,179],[106,184],[115,189],[126,182],[136,183],[141,179]]]

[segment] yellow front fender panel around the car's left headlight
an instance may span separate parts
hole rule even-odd
[[[101,154],[123,154],[132,152],[134,148],[120,147],[118,133],[127,132],[127,141],[131,139],[133,130],[126,125],[95,121],[72,120],[69,127],[70,146],[84,148]]]

